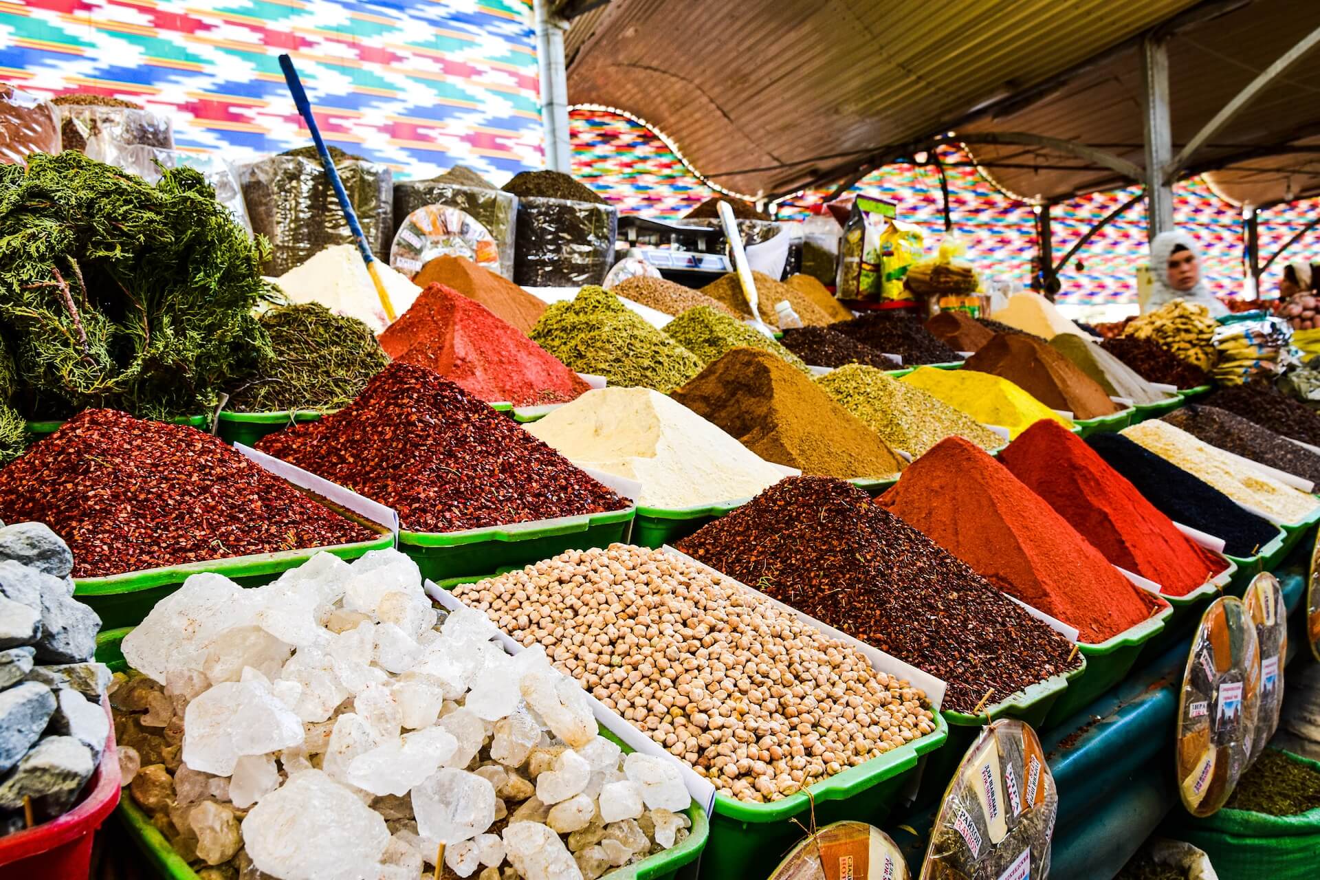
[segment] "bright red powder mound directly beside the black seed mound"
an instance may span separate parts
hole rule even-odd
[[[1059,422],[1036,422],[999,460],[1106,559],[1154,581],[1166,595],[1185,596],[1228,567]]]

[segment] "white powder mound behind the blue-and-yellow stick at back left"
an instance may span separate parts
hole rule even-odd
[[[421,288],[380,260],[376,261],[376,270],[397,318],[408,311]],[[281,274],[275,284],[292,302],[319,302],[335,314],[362,321],[378,336],[389,326],[376,285],[352,244],[335,244],[321,251]]]

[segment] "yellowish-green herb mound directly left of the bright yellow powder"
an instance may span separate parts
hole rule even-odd
[[[849,364],[825,373],[816,384],[884,438],[913,458],[945,437],[962,437],[991,450],[1005,439],[940,398],[887,376],[883,369]]]

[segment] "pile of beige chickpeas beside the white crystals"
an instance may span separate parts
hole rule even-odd
[[[615,544],[454,595],[741,801],[777,801],[935,731],[925,693],[737,582]]]

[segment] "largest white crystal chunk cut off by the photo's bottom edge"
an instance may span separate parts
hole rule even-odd
[[[319,770],[289,777],[243,819],[252,864],[281,880],[360,880],[389,843],[380,814]]]

